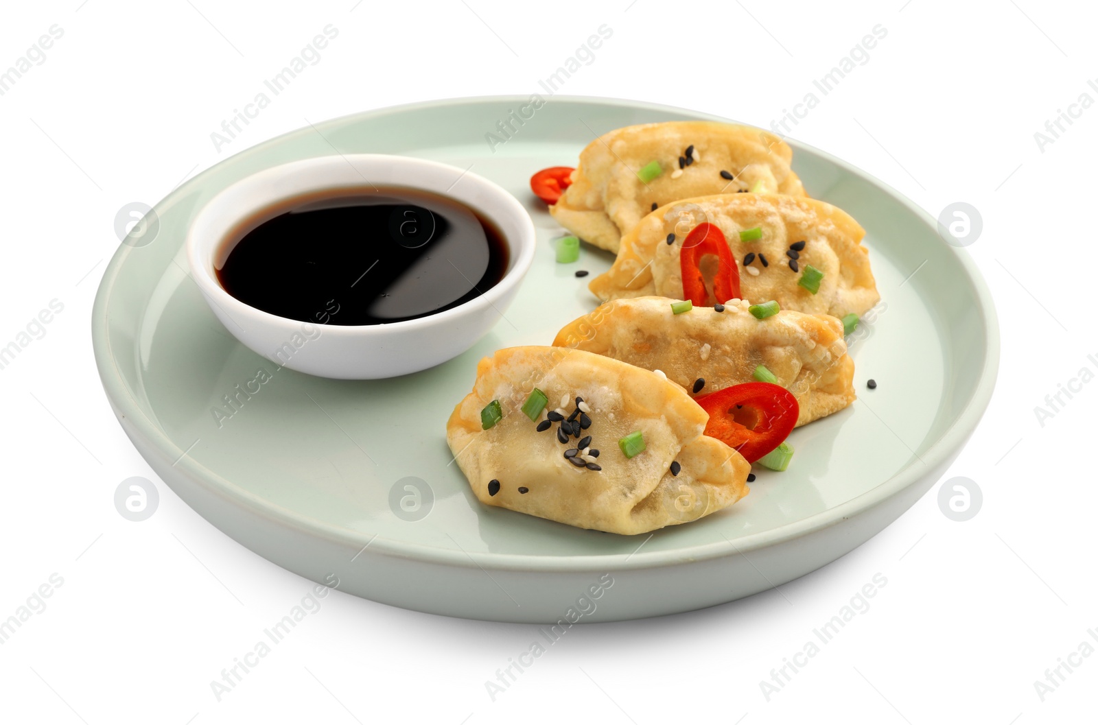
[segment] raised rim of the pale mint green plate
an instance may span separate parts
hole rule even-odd
[[[289,141],[296,136],[306,135],[309,133],[321,133],[322,129],[335,125],[345,125],[351,120],[365,121],[373,117],[428,109],[449,107],[453,105],[489,103],[506,104],[526,100],[528,100],[528,97],[517,94],[457,97],[383,106],[327,118],[320,123],[310,124],[307,126],[302,126],[284,134],[280,134],[273,138],[264,140],[255,146],[222,159],[217,163],[203,169],[191,179],[188,179],[179,186],[171,190],[167,195],[158,201],[153,208],[156,209],[168,204],[173,204],[179,197],[191,191],[197,182],[204,177],[210,175],[216,169],[220,169],[226,163],[238,162],[245,157],[262,152],[272,146]],[[623,106],[632,110],[682,114],[690,116],[690,120],[739,123],[741,125],[758,127],[753,124],[744,124],[742,122],[701,111],[692,111],[690,109],[661,103],[651,103],[648,101],[615,99],[597,95],[556,94],[552,95],[551,99],[547,100],[547,102],[549,101],[604,106]],[[323,134],[321,135],[323,136]],[[361,532],[323,522],[313,517],[303,516],[291,509],[287,509],[283,506],[273,503],[268,499],[261,498],[256,494],[239,488],[227,478],[224,478],[220,474],[206,468],[186,455],[181,456],[180,460],[173,464],[173,467],[179,467],[180,473],[186,475],[186,477],[192,483],[198,484],[203,488],[206,488],[210,492],[220,495],[223,498],[234,499],[238,506],[248,508],[253,514],[269,519],[280,525],[292,526],[303,533],[321,536],[328,541],[355,547],[367,543],[376,553],[383,553],[389,556],[411,558],[428,564],[438,564],[444,566],[459,566],[463,568],[489,567],[494,570],[537,570],[545,573],[586,573],[596,569],[632,570],[673,566],[682,560],[703,562],[715,558],[724,558],[727,556],[742,555],[747,552],[754,552],[787,543],[817,531],[840,524],[848,519],[874,509],[884,501],[919,483],[925,475],[932,472],[935,467],[942,464],[949,464],[951,456],[960,452],[968,438],[973,434],[973,432],[975,432],[981,418],[990,403],[998,377],[1000,359],[998,316],[995,310],[991,293],[984,281],[979,268],[976,265],[971,254],[968,254],[965,249],[948,245],[937,230],[938,223],[925,209],[915,204],[900,192],[893,189],[889,184],[827,151],[786,136],[783,136],[782,139],[785,140],[794,149],[794,151],[802,150],[817,155],[826,161],[841,168],[847,173],[858,177],[877,189],[881,189],[887,195],[892,196],[905,206],[923,224],[928,225],[934,231],[934,235],[941,240],[941,243],[945,245],[948,248],[945,251],[953,256],[955,261],[964,271],[968,283],[972,285],[975,293],[977,313],[979,314],[987,331],[985,344],[982,345],[984,352],[984,364],[979,370],[977,383],[972,390],[972,397],[968,403],[956,415],[950,427],[942,432],[939,440],[931,444],[921,456],[915,456],[915,461],[909,461],[901,471],[893,476],[889,476],[888,478],[885,478],[872,489],[864,491],[863,494],[860,494],[854,498],[840,503],[839,506],[815,513],[805,519],[789,522],[768,531],[748,534],[738,539],[737,543],[726,540],[726,542],[713,542],[690,548],[664,552],[634,552],[631,554],[538,555],[475,552],[477,559],[471,559],[470,554],[464,553],[463,551],[453,551],[427,544],[410,544],[397,539],[384,537],[377,534],[370,536]],[[336,149],[334,146],[333,149],[337,154],[341,154],[341,151]],[[91,338],[96,365],[99,371],[100,381],[112,408],[114,408],[115,415],[127,418],[128,424],[136,429],[135,432],[146,439],[146,442],[150,445],[150,448],[160,451],[161,453],[167,453],[172,449],[176,449],[179,453],[183,453],[183,450],[178,446],[175,441],[169,439],[160,427],[149,420],[144,414],[138,401],[130,394],[128,389],[126,389],[122,375],[117,372],[117,365],[114,362],[115,355],[113,349],[111,348],[109,336],[108,303],[114,283],[117,280],[126,259],[131,253],[134,253],[135,249],[137,248],[126,245],[124,241],[119,245],[117,250],[115,250],[115,253],[112,256],[111,261],[108,263],[108,267],[103,272],[103,276],[100,280],[99,287],[96,292],[96,299],[91,311]],[[125,426],[123,426],[123,429],[125,430]],[[127,434],[130,433],[128,430],[126,430],[126,432]],[[636,534],[634,536],[629,536],[628,539],[636,540],[637,536],[641,535],[643,534]],[[235,539],[235,536],[232,537]],[[647,541],[647,539],[645,541]]]

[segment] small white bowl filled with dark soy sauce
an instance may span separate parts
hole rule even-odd
[[[198,213],[192,276],[280,366],[372,380],[433,367],[500,321],[534,260],[519,202],[468,170],[326,156],[259,171]]]

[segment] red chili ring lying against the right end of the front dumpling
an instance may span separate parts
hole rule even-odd
[[[743,383],[694,398],[709,414],[705,434],[754,463],[777,448],[797,424],[800,406],[773,383]]]

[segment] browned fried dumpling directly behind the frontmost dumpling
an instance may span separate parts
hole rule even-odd
[[[855,397],[842,322],[830,315],[783,309],[755,319],[743,301],[720,313],[694,307],[676,315],[665,297],[635,297],[569,322],[553,344],[662,371],[691,393],[702,378],[694,395],[750,383],[763,365],[797,398],[797,426],[842,410]]]

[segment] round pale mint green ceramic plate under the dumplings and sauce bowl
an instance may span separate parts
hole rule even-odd
[[[594,275],[612,261],[584,248],[579,263],[554,263],[550,240],[561,230],[530,194],[530,174],[574,165],[593,134],[712,117],[553,97],[491,148],[486,134],[526,101],[439,101],[287,134],[177,189],[155,207],[155,237],[119,248],[96,298],[96,361],[122,427],[183,500],[266,558],[316,581],[335,575],[340,589],[361,597],[477,619],[593,622],[692,610],[781,585],[865,542],[938,479],[991,395],[999,343],[990,296],[967,254],[942,241],[925,213],[793,143],[808,192],[867,230],[884,304],[851,348],[860,399],[796,430],[789,469],[759,472],[743,501],[652,535],[584,531],[481,506],[445,440],[477,361],[497,348],[548,344],[595,306],[591,277],[579,280],[575,270]],[[310,377],[244,348],[206,307],[184,271],[195,212],[249,173],[335,151],[471,165],[527,205],[537,259],[506,319],[469,352],[388,381]],[[265,376],[257,393],[238,396]],[[870,377],[877,389],[865,388]],[[213,409],[232,411],[226,396],[236,397],[235,412],[219,420]],[[592,586],[598,598],[587,602]]]

